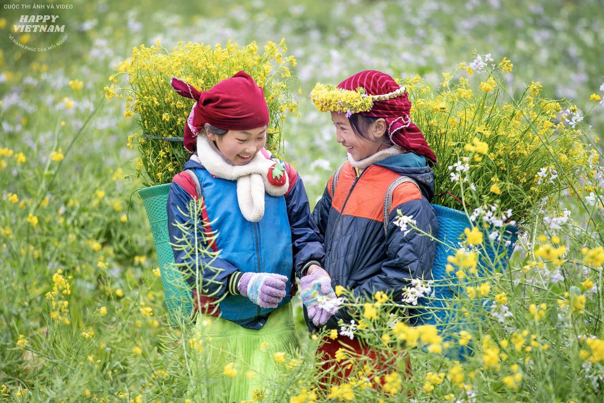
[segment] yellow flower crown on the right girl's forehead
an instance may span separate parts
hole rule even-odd
[[[308,97],[320,112],[345,112],[346,117],[350,117],[352,114],[369,111],[376,101],[396,98],[404,93],[405,86],[388,94],[367,95],[362,87],[350,91],[331,84],[316,83]]]

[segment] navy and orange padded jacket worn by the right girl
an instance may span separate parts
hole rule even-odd
[[[384,199],[390,184],[399,176],[412,182],[399,184],[393,192],[384,234]],[[355,297],[371,298],[377,291],[392,294],[400,303],[411,279],[430,280],[436,245],[416,230],[408,233],[394,225],[397,210],[413,216],[416,225],[436,236],[438,222],[429,200],[434,195],[434,172],[426,159],[414,153],[388,156],[362,172],[350,163],[342,166],[332,195],[333,175],[312,212],[325,248],[323,268],[332,277],[332,286],[352,289]],[[318,330],[304,318],[310,331]],[[349,324],[352,317],[339,309],[326,323],[327,329],[339,329],[338,321]]]

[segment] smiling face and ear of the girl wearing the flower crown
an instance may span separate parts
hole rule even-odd
[[[384,119],[378,119],[371,124],[370,134],[368,135],[371,140],[366,140],[356,135],[352,126],[350,126],[349,118],[345,117],[344,114],[332,112],[332,120],[336,126],[336,140],[342,146],[346,147],[347,152],[350,153],[353,160],[364,160],[379,150],[388,148],[382,141],[379,141],[385,132],[384,122],[381,122]]]

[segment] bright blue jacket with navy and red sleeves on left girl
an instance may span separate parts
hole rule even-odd
[[[272,158],[266,150],[262,151],[266,158]],[[277,273],[291,279],[286,286],[289,295],[278,304],[279,308],[295,294],[295,276],[300,277],[313,263],[322,265],[324,260],[323,245],[310,218],[302,179],[288,163],[283,163],[289,177],[289,189],[284,196],[265,193],[265,213],[258,222],[243,218],[237,203],[237,181],[217,178],[196,161],[189,160],[184,165],[185,170],[193,170],[201,183],[205,205],[202,218],[205,223],[211,223],[197,229],[197,239],[204,243],[206,250],[209,248],[219,254],[217,257],[191,254],[187,259],[186,251],[173,246],[174,260],[177,264],[195,267],[196,259],[200,271],[204,271],[198,291],[202,305],[207,304],[200,308],[202,312],[220,315],[248,329],[260,329],[276,308],[260,308],[240,295],[237,285],[244,272]],[[183,237],[182,231],[172,223],[189,221],[180,210],[186,212],[192,199],[198,199],[193,179],[187,172],[178,173],[172,179],[166,205],[172,243],[178,243]],[[204,233],[213,231],[217,237],[204,240]],[[194,243],[194,233],[187,237]],[[196,278],[188,277],[187,282],[194,286]],[[219,298],[222,299],[216,303]]]

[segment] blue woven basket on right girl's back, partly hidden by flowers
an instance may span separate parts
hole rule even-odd
[[[434,324],[439,329],[443,340],[457,341],[457,334],[460,330],[468,330],[469,325],[464,325],[463,312],[458,312],[457,305],[453,302],[454,294],[458,292],[454,280],[446,272],[445,265],[447,257],[454,255],[457,251],[457,242],[463,231],[467,227],[471,227],[470,221],[463,211],[454,210],[453,208],[443,207],[432,204],[436,212],[437,220],[439,221],[439,233],[437,238],[446,243],[436,244],[436,256],[434,266],[432,267],[432,280],[434,280],[434,295],[431,298],[420,298],[418,305],[426,308],[416,309],[413,313],[417,315],[412,319],[415,325]],[[504,270],[507,265],[507,259],[512,255],[514,250],[513,244],[518,239],[516,232],[518,229],[511,225],[506,227],[506,233],[503,234],[504,240],[510,240],[509,247],[504,246],[504,242],[495,242],[495,249],[487,246],[486,252],[491,261],[495,260],[495,256],[500,256],[499,266],[496,270]],[[484,256],[479,258],[480,264],[484,266]],[[480,275],[481,273],[479,273]],[[456,343],[457,344],[457,343]],[[463,361],[464,356],[472,353],[471,346],[469,348],[461,347],[457,349],[448,349],[445,355],[458,361]]]

